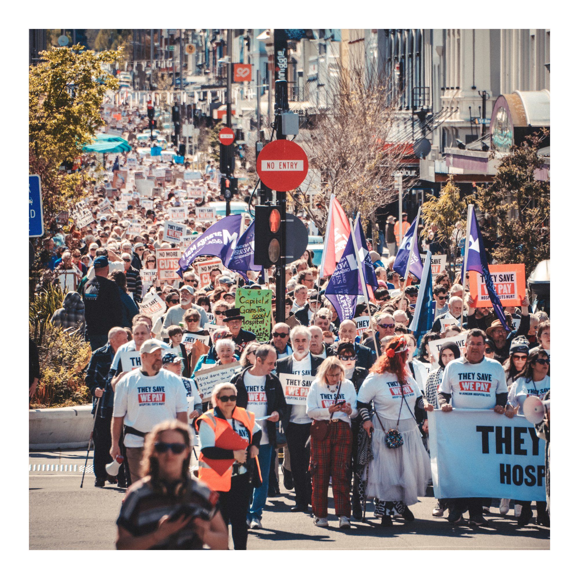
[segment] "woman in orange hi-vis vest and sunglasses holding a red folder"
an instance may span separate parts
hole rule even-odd
[[[219,491],[219,507],[231,523],[233,547],[247,548],[247,509],[254,487],[261,486],[259,454],[261,428],[253,412],[237,406],[237,389],[230,382],[217,384],[213,408],[197,420],[201,454],[199,479]]]

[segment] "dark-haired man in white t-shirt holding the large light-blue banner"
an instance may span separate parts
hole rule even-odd
[[[489,409],[504,414],[508,393],[507,380],[500,362],[485,357],[485,340],[486,334],[482,329],[469,330],[464,356],[446,365],[438,387],[438,404],[442,412],[451,412],[454,407]],[[471,525],[484,525],[484,502],[481,498],[452,499],[449,522],[459,523],[462,521],[463,512],[468,510]]]

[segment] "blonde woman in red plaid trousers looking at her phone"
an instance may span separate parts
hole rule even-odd
[[[318,367],[306,401],[311,427],[310,471],[314,525],[328,526],[328,486],[341,528],[350,527],[351,419],[358,415],[356,387],[345,378],[342,362],[329,356]]]

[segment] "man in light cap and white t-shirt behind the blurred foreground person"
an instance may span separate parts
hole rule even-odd
[[[187,393],[179,376],[162,368],[162,347],[154,340],[141,346],[141,367],[124,375],[115,388],[111,426],[111,456],[120,455],[119,438],[124,425],[124,446],[131,481],[141,478],[140,464],[145,436],[164,420],[187,422]]]

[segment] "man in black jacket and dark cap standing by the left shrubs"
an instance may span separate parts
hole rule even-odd
[[[107,278],[108,258],[98,256],[94,262],[94,277],[83,288],[85,302],[85,339],[92,350],[107,343],[109,329],[120,326],[123,321],[123,306],[118,285]]]

